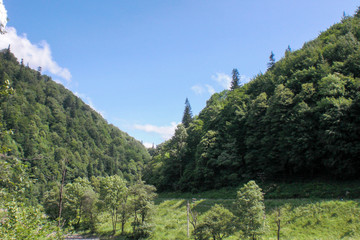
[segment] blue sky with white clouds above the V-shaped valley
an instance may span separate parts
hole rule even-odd
[[[171,137],[185,99],[194,114],[316,38],[357,1],[0,0],[0,47],[63,84],[147,146]],[[0,9],[0,21],[4,11]]]

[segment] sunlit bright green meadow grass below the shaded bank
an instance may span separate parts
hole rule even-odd
[[[233,210],[233,200],[202,199],[193,206],[203,214],[215,204]],[[359,201],[270,199],[265,201],[265,206],[263,239],[276,239],[277,208],[282,214],[281,239],[360,239]],[[156,212],[152,239],[191,239],[187,237],[186,200],[158,199]],[[227,239],[239,239],[239,236],[240,233],[236,233]]]

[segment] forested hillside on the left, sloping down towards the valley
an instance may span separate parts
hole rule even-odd
[[[10,47],[0,53],[1,85],[9,80],[15,90],[0,102],[2,131],[13,132],[0,136],[1,146],[11,149],[8,158],[28,165],[38,184],[60,182],[64,162],[67,181],[114,174],[131,180],[141,174],[149,154],[140,142],[61,84],[19,63]]]

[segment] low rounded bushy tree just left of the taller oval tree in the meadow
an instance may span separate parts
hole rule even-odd
[[[195,239],[224,239],[235,232],[235,216],[221,205],[215,204],[205,213],[204,220],[194,231]]]

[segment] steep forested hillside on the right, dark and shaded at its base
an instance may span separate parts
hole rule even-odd
[[[270,58],[247,84],[234,84],[235,71],[230,90],[152,149],[148,182],[196,191],[247,179],[358,179],[359,41],[358,10],[302,49]]]

